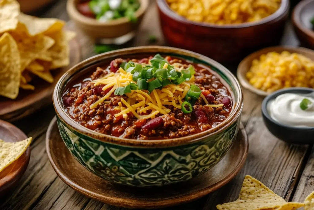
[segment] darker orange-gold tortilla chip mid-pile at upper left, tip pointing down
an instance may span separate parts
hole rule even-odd
[[[21,56],[21,71],[24,71],[26,66],[31,61],[45,53],[54,44],[54,40],[48,36],[37,35],[29,37],[25,32],[11,31],[10,34],[16,40]]]

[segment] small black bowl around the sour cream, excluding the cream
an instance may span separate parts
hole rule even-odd
[[[298,128],[275,121],[268,113],[267,104],[270,100],[285,93],[307,94],[312,88],[285,88],[268,95],[262,103],[263,120],[268,130],[277,138],[291,144],[313,144],[314,127]]]

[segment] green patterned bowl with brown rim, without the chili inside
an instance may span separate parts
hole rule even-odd
[[[61,98],[68,82],[116,58],[148,57],[157,53],[191,60],[216,71],[232,93],[234,104],[230,116],[212,129],[187,137],[134,140],[89,130],[64,111]],[[186,181],[214,167],[236,139],[243,99],[236,78],[216,61],[178,48],[146,46],[115,50],[82,61],[60,78],[53,104],[62,139],[78,162],[108,181],[144,187]]]

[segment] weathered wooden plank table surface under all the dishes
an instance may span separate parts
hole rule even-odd
[[[41,14],[42,17],[57,17],[68,21],[66,1],[59,0]],[[157,10],[151,1],[141,30],[132,43],[127,46],[149,45],[148,37],[158,37],[158,45],[163,45]],[[68,26],[75,30],[72,21]],[[95,53],[93,43],[78,32],[83,59]],[[287,23],[283,45],[298,45],[298,41]],[[236,65],[228,66],[235,73]],[[174,210],[209,210],[216,209],[217,204],[237,199],[242,181],[246,174],[262,181],[279,196],[287,201],[304,201],[305,197],[314,190],[314,154],[312,145],[289,145],[275,138],[268,132],[261,117],[261,103],[263,98],[243,90],[244,108],[242,122],[249,136],[249,154],[245,166],[236,178],[214,193],[184,204],[167,209]],[[122,210],[123,208],[109,206],[99,201],[87,198],[72,190],[58,178],[52,169],[46,154],[45,137],[47,127],[55,115],[53,106],[38,111],[14,124],[27,136],[33,137],[31,144],[31,158],[29,166],[20,180],[19,186],[0,198],[1,210],[20,209],[102,209]]]

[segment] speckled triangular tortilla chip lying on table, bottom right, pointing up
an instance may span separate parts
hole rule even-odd
[[[249,175],[245,176],[238,200],[217,205],[219,210],[261,210],[278,208],[287,202],[263,183]]]

